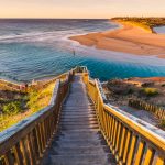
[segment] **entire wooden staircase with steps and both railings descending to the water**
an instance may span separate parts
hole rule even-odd
[[[47,107],[0,133],[0,165],[15,164],[165,165],[165,132],[108,103],[76,67],[57,77]]]

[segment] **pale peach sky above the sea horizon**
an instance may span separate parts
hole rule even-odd
[[[165,0],[0,0],[0,18],[165,16]]]

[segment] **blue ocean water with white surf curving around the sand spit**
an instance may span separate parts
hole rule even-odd
[[[0,20],[0,77],[30,81],[77,65],[87,66],[91,77],[101,80],[165,76],[165,59],[96,50],[68,40],[118,28],[109,20]]]

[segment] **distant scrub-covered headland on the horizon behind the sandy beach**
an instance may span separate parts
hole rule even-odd
[[[165,25],[165,18],[113,18],[114,21],[129,22],[145,30],[153,31],[153,28]]]

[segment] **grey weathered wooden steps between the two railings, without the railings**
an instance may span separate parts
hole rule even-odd
[[[111,165],[114,156],[101,135],[92,102],[80,75],[74,77],[63,105],[59,131],[43,165]]]

